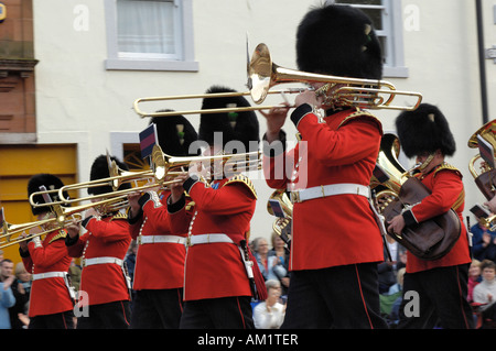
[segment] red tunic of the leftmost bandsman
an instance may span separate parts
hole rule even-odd
[[[24,267],[32,274],[47,272],[68,272],[72,259],[67,254],[64,230],[46,234],[41,248],[34,242],[28,244],[30,255],[22,257]],[[72,310],[74,307],[67,285],[63,277],[50,277],[33,282],[29,316],[45,316]]]

